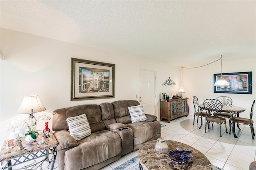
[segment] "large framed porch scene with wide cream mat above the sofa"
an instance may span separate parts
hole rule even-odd
[[[71,101],[114,98],[115,64],[71,58]]]

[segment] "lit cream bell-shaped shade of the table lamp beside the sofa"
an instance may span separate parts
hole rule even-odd
[[[30,118],[33,118],[33,113],[45,111],[46,108],[42,105],[38,95],[25,96],[22,104],[20,105],[17,113],[30,114]]]

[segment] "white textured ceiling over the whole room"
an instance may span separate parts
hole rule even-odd
[[[255,0],[1,0],[0,5],[1,28],[175,65],[204,64],[220,55],[223,61],[256,57]]]

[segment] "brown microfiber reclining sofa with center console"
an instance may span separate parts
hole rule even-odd
[[[128,107],[135,100],[100,105],[78,105],[53,111],[52,130],[58,141],[57,162],[60,170],[95,170],[138,150],[147,141],[161,136],[157,117],[145,114],[146,121],[131,122]],[[86,114],[91,134],[82,140],[70,135],[69,117]]]

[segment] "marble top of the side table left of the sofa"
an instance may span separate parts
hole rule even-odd
[[[4,144],[0,151],[0,162],[4,162],[4,161],[7,161],[7,160],[10,160],[13,158],[17,158],[22,155],[38,152],[40,150],[45,150],[45,149],[49,149],[54,146],[57,146],[58,142],[52,133],[50,133],[50,138],[44,137],[45,143],[41,144],[42,134],[43,134],[42,132],[39,133],[39,137],[36,139],[36,141],[31,142],[31,143],[28,143],[25,140],[26,136],[23,136],[21,138],[21,140],[22,140],[22,146],[24,146],[24,149],[22,149],[22,150],[18,150],[18,144],[19,144],[18,141],[13,142],[14,147],[9,148],[9,149],[6,149],[7,140],[4,141]]]

